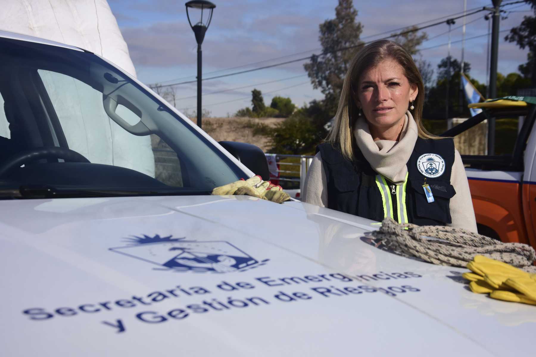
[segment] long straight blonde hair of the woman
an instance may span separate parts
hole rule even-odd
[[[343,90],[340,94],[339,107],[333,126],[326,141],[340,149],[347,159],[354,159],[354,134],[353,127],[358,118],[359,109],[355,105],[352,96],[352,82],[358,81],[361,74],[385,59],[394,59],[404,69],[404,75],[410,85],[416,85],[419,89],[413,105],[413,119],[417,125],[418,135],[423,139],[440,139],[439,136],[430,134],[422,124],[422,108],[425,102],[425,85],[421,74],[413,62],[413,58],[396,42],[380,40],[366,45],[352,59],[352,63],[346,72]],[[409,103],[408,103],[409,104]]]

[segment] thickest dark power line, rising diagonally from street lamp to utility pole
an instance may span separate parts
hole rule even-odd
[[[513,4],[519,4],[519,3],[525,3],[525,1],[524,1],[524,0],[519,0],[519,1],[510,2],[510,3],[504,3],[504,4],[501,4],[501,7],[503,7],[503,6],[508,6],[508,5],[513,5]],[[473,11],[473,10],[474,10],[474,11]],[[452,18],[452,16],[456,16],[457,14],[463,14],[464,12],[463,12],[463,11],[462,11],[462,12],[457,12],[457,13],[454,13],[454,14],[450,14],[450,15],[446,15],[446,16],[443,16],[443,17],[439,17],[439,18],[437,18],[437,19],[433,19],[433,20],[427,20],[427,21],[419,22],[418,24],[414,24],[414,25],[410,25],[410,26],[405,26],[405,27],[400,27],[400,28],[398,28],[398,29],[394,29],[394,30],[390,30],[390,31],[382,32],[382,33],[379,33],[379,34],[374,34],[374,35],[365,36],[365,37],[363,37],[363,39],[367,39],[367,38],[370,38],[370,37],[383,35],[383,34],[386,34],[386,33],[392,33],[393,31],[398,31],[398,30],[400,30],[400,29],[405,29],[405,28],[411,28],[411,27],[413,27],[413,26],[418,26],[418,25],[421,25],[421,24],[426,24],[427,22],[430,22],[430,21],[436,21],[436,20],[439,20],[439,19],[452,18],[453,20],[456,20],[456,19],[459,19],[459,18],[463,18],[464,16],[465,16],[465,17],[467,17],[467,16],[471,16],[472,14],[475,14],[475,13],[477,13],[477,12],[486,11],[486,10],[487,10],[487,9],[486,9],[485,7],[474,7],[473,9],[467,10],[467,11],[473,11],[473,12],[466,13],[466,14],[461,15],[461,16],[458,16],[458,17],[454,17],[454,18]],[[398,33],[398,34],[394,34],[394,35],[391,35],[391,36],[388,36],[388,37],[383,37],[382,39],[377,39],[377,40],[374,40],[374,41],[390,39],[391,37],[396,37],[396,36],[403,35],[403,34],[406,34],[406,33],[411,33],[411,32],[420,31],[421,29],[425,29],[425,28],[428,28],[428,27],[432,27],[432,26],[440,25],[440,24],[442,24],[443,22],[444,22],[444,21],[436,22],[436,23],[431,24],[431,25],[427,25],[427,26],[423,26],[423,27],[420,27],[420,28],[416,28],[416,29],[408,30],[408,31],[401,32],[401,33]],[[433,38],[435,38],[435,37],[433,37]],[[429,40],[430,40],[430,39],[429,39]],[[367,44],[367,43],[370,43],[370,42],[374,42],[374,41],[365,42],[364,44]],[[346,48],[341,48],[341,49],[334,50],[334,51],[323,52],[322,54],[320,54],[320,55],[318,55],[318,56],[322,56],[322,55],[326,55],[326,54],[330,54],[330,53],[334,53],[334,52],[338,52],[338,51],[344,51],[344,50],[347,50],[347,49],[352,49],[352,48],[355,48],[355,47],[359,47],[359,46],[361,46],[361,45],[363,45],[363,44],[359,44],[359,45],[355,45],[355,46],[350,46],[350,47],[346,47]],[[269,61],[271,61],[271,60],[275,60],[275,59],[281,59],[281,58],[292,57],[292,56],[295,56],[295,55],[301,55],[301,54],[304,54],[304,53],[307,53],[307,52],[310,52],[310,51],[316,51],[316,50],[318,50],[318,49],[321,49],[321,48],[316,48],[316,49],[312,49],[312,50],[307,50],[307,51],[297,52],[297,53],[295,53],[295,54],[291,54],[291,55],[285,55],[285,56],[281,56],[281,57],[276,57],[276,58],[266,59],[266,60],[262,60],[262,61],[259,61],[259,62],[254,62],[254,63],[244,64],[244,65],[235,66],[235,67],[230,67],[230,68],[228,68],[228,69],[224,69],[224,70],[218,70],[218,71],[207,72],[207,73],[204,73],[204,74],[207,74],[207,75],[208,75],[208,74],[213,74],[213,73],[225,72],[225,71],[232,70],[232,69],[238,69],[238,68],[247,67],[247,66],[254,65],[254,64],[260,64],[260,63],[269,62]],[[210,77],[210,78],[203,78],[202,80],[217,79],[217,78],[222,78],[222,77],[228,77],[228,76],[230,76],[230,75],[236,75],[236,74],[242,74],[242,73],[247,73],[247,72],[252,72],[252,71],[264,70],[264,69],[268,69],[268,68],[271,68],[271,67],[281,66],[281,65],[285,65],[285,64],[294,63],[294,62],[300,62],[300,61],[302,61],[302,60],[309,59],[309,58],[311,58],[312,56],[315,56],[315,55],[311,55],[311,56],[303,57],[303,58],[298,58],[298,59],[295,59],[295,60],[292,60],[292,61],[286,61],[286,62],[282,62],[282,63],[274,64],[274,65],[262,66],[262,67],[258,67],[258,68],[256,68],[256,69],[252,69],[252,70],[239,71],[239,72],[234,72],[234,73],[229,73],[229,74],[219,75],[219,76],[215,76],[215,77]],[[190,75],[190,76],[188,76],[188,77],[182,77],[182,78],[178,78],[178,79],[175,79],[175,80],[186,79],[186,78],[195,78],[195,75]],[[173,81],[173,80],[168,80],[168,81]],[[167,82],[167,81],[166,81],[166,82]],[[188,84],[188,83],[195,83],[195,82],[197,82],[197,80],[183,81],[183,82],[177,82],[177,83],[169,83],[169,84],[161,85],[161,87],[177,86],[177,85]],[[151,85],[150,85],[150,86],[151,86]]]

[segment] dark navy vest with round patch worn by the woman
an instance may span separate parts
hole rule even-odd
[[[322,155],[322,164],[327,180],[327,207],[352,215],[382,221],[385,217],[382,194],[376,184],[377,173],[371,168],[361,151],[354,146],[355,160],[344,158],[331,143],[323,143],[316,148]],[[418,225],[445,225],[452,223],[449,203],[456,194],[450,184],[452,165],[454,163],[454,142],[446,139],[421,139],[415,142],[410,160],[407,162],[408,179],[406,190],[407,220]],[[444,159],[444,171],[438,177],[426,177],[421,171],[427,165],[434,170],[432,160],[425,154],[440,155]],[[433,171],[429,171],[433,173]],[[428,203],[423,184],[429,185],[434,202]],[[401,189],[400,189],[401,192]]]

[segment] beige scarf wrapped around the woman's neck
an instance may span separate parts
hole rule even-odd
[[[374,141],[364,117],[360,117],[356,122],[354,136],[359,149],[374,171],[396,185],[404,183],[407,173],[406,163],[418,137],[417,125],[409,111],[406,112],[400,141]]]

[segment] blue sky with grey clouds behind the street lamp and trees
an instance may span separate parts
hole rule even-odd
[[[503,0],[511,3],[515,0]],[[203,78],[239,72],[256,67],[306,57],[321,52],[318,25],[334,18],[337,0],[214,0],[212,22],[203,42]],[[144,83],[166,84],[195,81],[197,74],[197,43],[188,24],[183,2],[176,0],[108,0],[138,78]],[[429,0],[379,0],[357,2],[357,20],[363,25],[361,39],[379,39],[381,33],[421,24],[463,12],[463,0],[443,2]],[[467,12],[491,6],[488,0],[467,0]],[[501,20],[498,71],[517,72],[526,62],[526,50],[504,41],[511,27],[519,25],[523,16],[530,16],[525,3],[504,6]],[[488,51],[487,12],[468,16],[466,21],[465,61],[471,63],[471,75],[486,82]],[[193,21],[193,20],[192,20]],[[433,22],[438,22],[433,21]],[[431,22],[427,22],[429,24]],[[425,24],[425,25],[426,25]],[[451,55],[461,58],[462,19],[451,31]],[[429,40],[421,45],[420,54],[434,68],[447,55],[448,25],[425,30]],[[471,37],[480,36],[475,39]],[[203,108],[211,116],[233,115],[237,109],[251,104],[251,90],[263,92],[267,105],[275,95],[290,97],[297,105],[323,97],[312,88],[303,64],[306,61],[272,67],[260,71],[203,81]],[[197,84],[174,86],[176,107],[183,112],[197,108]],[[225,91],[225,92],[222,92]],[[219,93],[212,93],[219,92]]]

